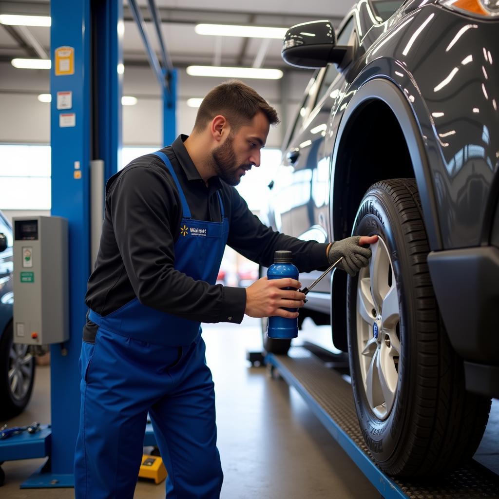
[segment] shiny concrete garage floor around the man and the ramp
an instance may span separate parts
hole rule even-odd
[[[217,394],[218,447],[225,474],[222,499],[380,498],[297,392],[245,360],[247,348],[261,349],[257,320],[203,329]],[[31,402],[9,426],[50,421],[49,376],[49,367],[37,368]],[[488,428],[496,435],[498,415],[499,411],[491,414]],[[498,464],[497,439],[486,440],[479,453],[483,461]],[[73,498],[72,489],[19,489],[42,463],[41,459],[4,463],[1,499]],[[164,498],[164,483],[141,480],[134,497]]]

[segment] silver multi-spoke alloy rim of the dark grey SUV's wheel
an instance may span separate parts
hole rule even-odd
[[[385,242],[370,246],[369,266],[357,283],[357,348],[366,398],[385,420],[395,401],[400,360],[400,308],[390,253]]]

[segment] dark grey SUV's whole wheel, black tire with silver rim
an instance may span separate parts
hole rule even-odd
[[[463,362],[441,320],[416,182],[374,184],[353,235],[379,236],[369,267],[347,281],[348,353],[364,441],[389,475],[441,475],[475,454],[491,400],[466,391]]]

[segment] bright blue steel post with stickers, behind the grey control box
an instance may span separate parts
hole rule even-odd
[[[52,215],[69,223],[69,341],[63,356],[50,348],[51,473],[73,482],[74,447],[80,408],[78,358],[85,323],[84,302],[90,272],[90,0],[51,0],[50,143],[52,146]],[[55,76],[54,50],[74,47],[74,74]],[[56,92],[72,91],[72,109],[56,108]],[[60,113],[75,113],[76,126],[59,127]],[[79,169],[75,169],[79,162]],[[76,164],[78,166],[78,164]],[[81,172],[81,178],[80,173]],[[60,483],[60,480],[59,480]]]

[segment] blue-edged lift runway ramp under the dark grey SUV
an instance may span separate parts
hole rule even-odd
[[[472,461],[442,479],[392,479],[375,464],[359,428],[351,386],[301,347],[265,362],[304,398],[332,437],[385,499],[498,499],[499,477]]]

